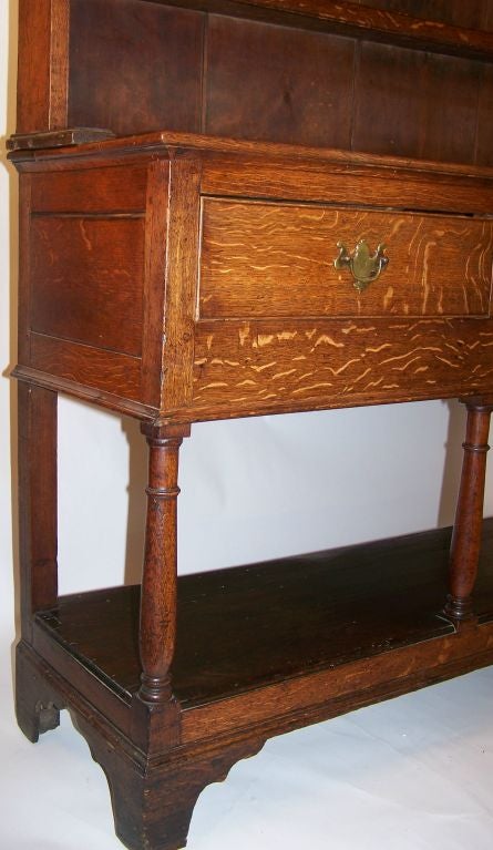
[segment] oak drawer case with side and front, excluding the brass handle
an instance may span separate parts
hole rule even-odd
[[[19,373],[173,421],[492,391],[491,170],[160,133],[16,160]]]

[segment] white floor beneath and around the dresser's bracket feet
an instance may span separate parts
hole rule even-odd
[[[1,850],[117,850],[101,769],[66,713],[27,741],[0,672]],[[493,667],[276,738],[209,786],[189,850],[491,850]]]

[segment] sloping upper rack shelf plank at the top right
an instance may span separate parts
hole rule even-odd
[[[148,0],[142,0],[142,2]],[[338,0],[153,0],[166,6],[316,29],[493,62],[493,33]]]

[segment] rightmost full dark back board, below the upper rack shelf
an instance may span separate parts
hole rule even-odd
[[[469,60],[363,43],[353,149],[474,162],[480,71]]]

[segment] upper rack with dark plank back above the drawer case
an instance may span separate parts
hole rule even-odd
[[[166,129],[493,165],[492,0],[20,6],[21,134]]]

